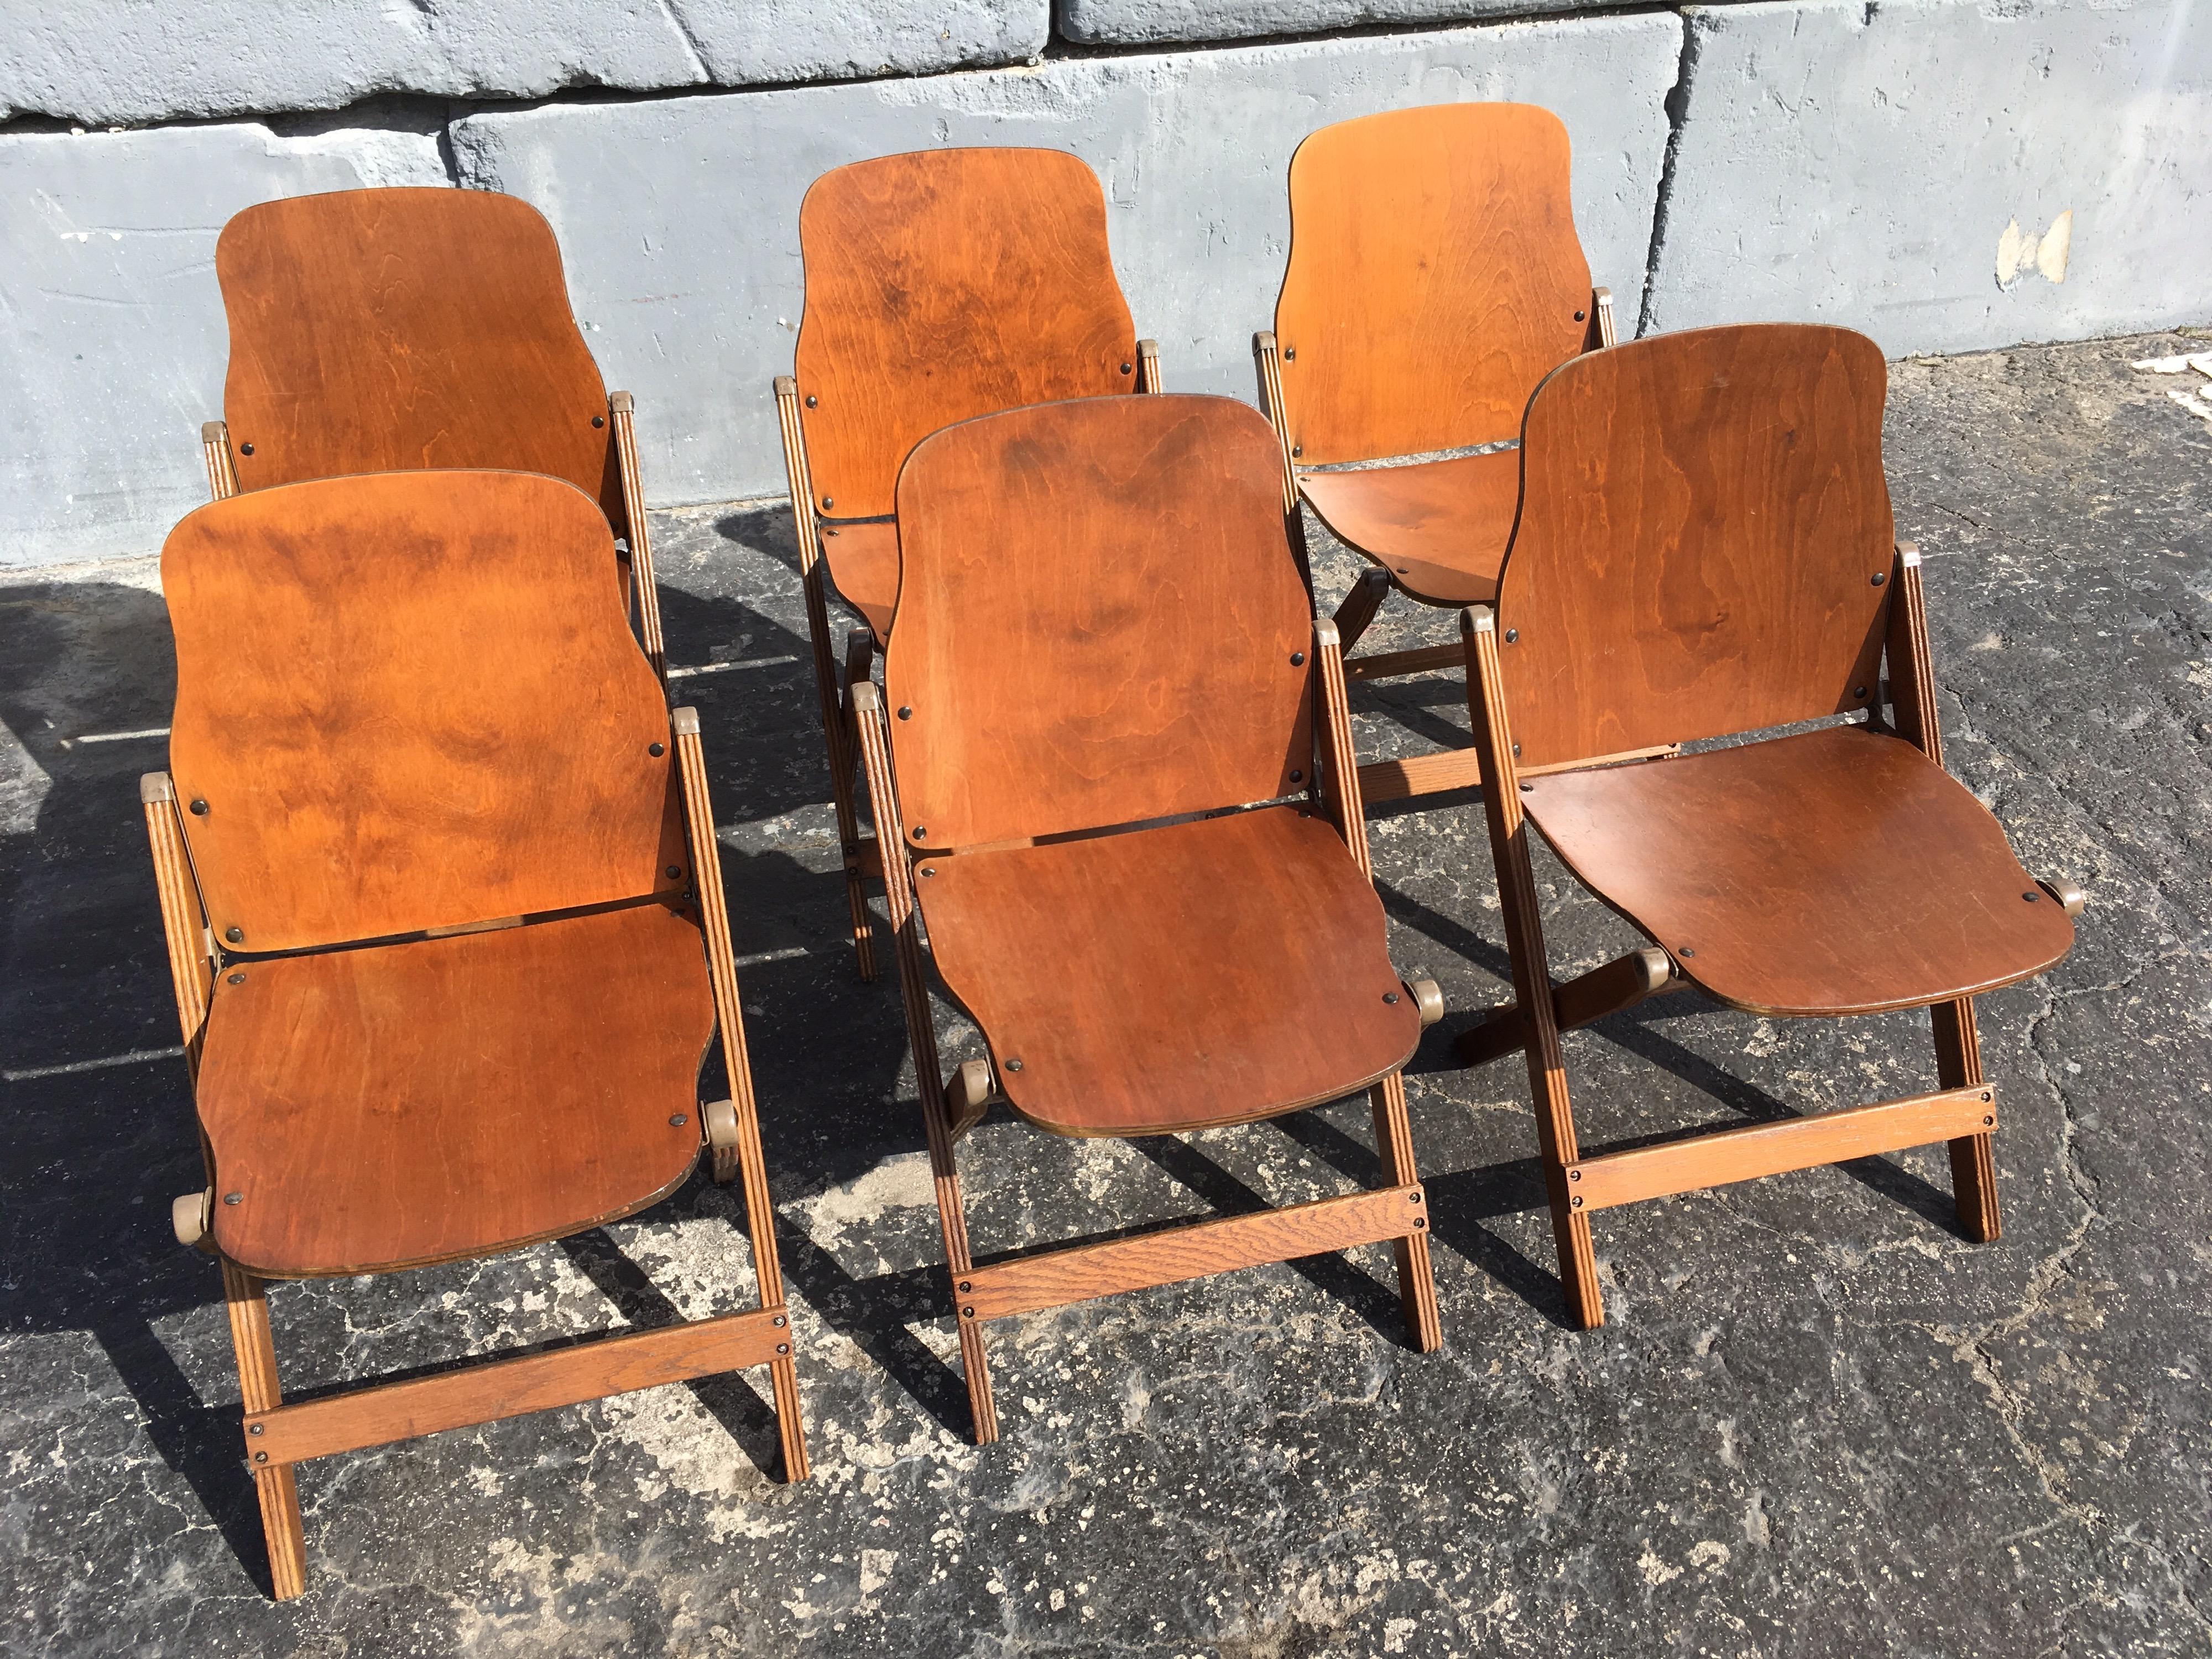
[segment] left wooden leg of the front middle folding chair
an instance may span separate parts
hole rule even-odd
[[[982,1345],[982,1321],[962,1294],[971,1290],[969,1272],[975,1256],[967,1239],[967,1203],[960,1197],[960,1166],[953,1161],[953,1126],[945,1106],[945,1062],[938,1057],[938,1029],[929,1013],[929,975],[922,964],[920,918],[914,911],[914,876],[907,847],[898,834],[898,787],[891,781],[891,734],[883,723],[883,692],[874,681],[854,686],[854,734],[867,765],[867,801],[876,818],[876,847],[883,852],[883,891],[891,909],[891,936],[898,940],[898,993],[907,1006],[907,1042],[914,1046],[914,1071],[922,1093],[922,1133],[929,1137],[929,1172],[938,1190],[938,1223],[945,1230],[945,1270],[953,1287],[953,1325],[960,1329],[960,1374],[969,1387],[969,1413],[975,1422],[975,1444],[998,1440],[998,1405],[991,1398],[991,1356]]]

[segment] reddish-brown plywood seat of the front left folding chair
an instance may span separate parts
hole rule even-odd
[[[215,1241],[361,1274],[641,1210],[699,1157],[712,1026],[699,925],[664,905],[232,964],[199,1066]]]

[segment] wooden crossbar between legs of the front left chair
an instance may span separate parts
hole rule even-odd
[[[776,1343],[790,1343],[785,1321],[785,1310],[763,1307],[250,1411],[246,1455],[257,1469],[305,1462],[692,1376],[743,1371],[776,1358]]]

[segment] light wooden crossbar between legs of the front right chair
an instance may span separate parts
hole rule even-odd
[[[1874,1152],[1989,1135],[1995,1128],[1995,1088],[1986,1084],[1947,1088],[1940,1095],[1885,1099],[1876,1106],[1790,1117],[1781,1124],[1747,1124],[1666,1146],[1586,1157],[1566,1166],[1566,1190],[1575,1210],[1610,1210],[1619,1203],[1752,1181],[1761,1175],[1812,1170]]]

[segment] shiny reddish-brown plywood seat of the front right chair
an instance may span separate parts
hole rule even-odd
[[[1989,807],[1865,726],[1537,776],[1522,805],[1683,978],[1752,1013],[1947,1002],[2073,945]]]

